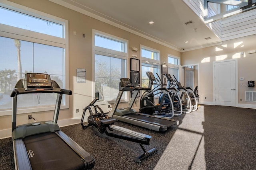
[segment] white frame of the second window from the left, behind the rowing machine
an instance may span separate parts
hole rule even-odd
[[[95,35],[101,36],[101,37],[105,37],[108,39],[112,39],[114,41],[119,41],[124,43],[124,52],[120,52],[120,51],[115,51],[112,49],[107,49],[104,47],[98,47],[95,45]],[[95,64],[95,55],[97,53],[109,53],[111,55],[116,55],[116,56],[110,56],[110,57],[116,57],[118,59],[125,59],[126,60],[126,76],[128,76],[128,46],[129,45],[129,41],[120,37],[117,37],[115,35],[111,35],[96,29],[92,29],[92,65]],[[95,97],[95,68],[92,69],[92,96]],[[120,103],[122,102],[128,102],[130,100],[130,94],[126,93],[126,97],[127,99],[121,99]],[[104,105],[104,104],[114,104],[115,100],[110,100],[110,101],[98,101],[97,104],[98,105]]]

